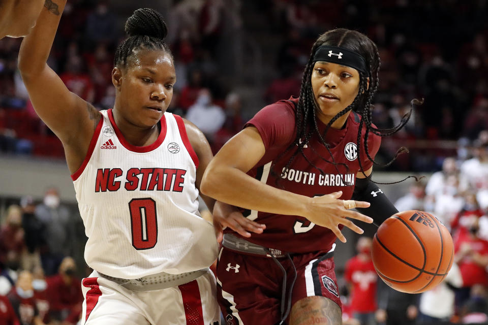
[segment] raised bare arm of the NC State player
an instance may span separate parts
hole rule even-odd
[[[84,159],[101,115],[68,90],[46,61],[67,0],[46,0],[31,34],[20,47],[19,70],[34,109],[63,142],[70,171]]]

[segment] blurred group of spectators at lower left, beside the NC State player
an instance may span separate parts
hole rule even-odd
[[[75,324],[80,319],[81,281],[74,218],[56,188],[36,204],[24,197],[10,205],[0,226],[0,323]]]

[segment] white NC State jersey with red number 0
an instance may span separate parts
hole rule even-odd
[[[102,111],[87,155],[72,175],[94,270],[136,279],[210,266],[218,245],[198,212],[198,157],[181,117],[164,113],[155,143],[128,143]]]

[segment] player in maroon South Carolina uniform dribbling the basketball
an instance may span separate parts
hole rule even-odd
[[[370,180],[380,137],[408,121],[372,124],[379,66],[368,37],[326,32],[299,98],[263,108],[210,162],[201,190],[247,209],[214,219],[229,226],[217,266],[227,324],[341,323],[335,239],[346,241],[343,226],[363,232],[350,218],[379,224],[397,212]]]

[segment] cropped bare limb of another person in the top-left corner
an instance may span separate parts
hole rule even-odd
[[[45,0],[2,0],[0,2],[0,39],[5,36],[22,37],[36,24]]]

